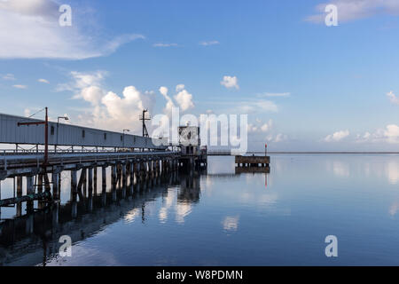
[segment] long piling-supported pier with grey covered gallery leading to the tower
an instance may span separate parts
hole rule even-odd
[[[0,214],[1,207],[16,204],[17,216],[22,215],[23,202],[27,211],[33,211],[34,201],[47,205],[59,201],[61,172],[68,172],[71,194],[84,195],[97,187],[93,184],[98,170],[106,187],[110,169],[115,187],[153,179],[160,173],[171,175],[183,164],[191,165],[183,163],[181,151],[165,139],[50,122],[45,110],[44,121],[0,114],[0,144],[15,146],[0,152]],[[199,159],[191,158],[194,163]],[[1,182],[6,178],[14,179],[14,194],[2,199]]]

